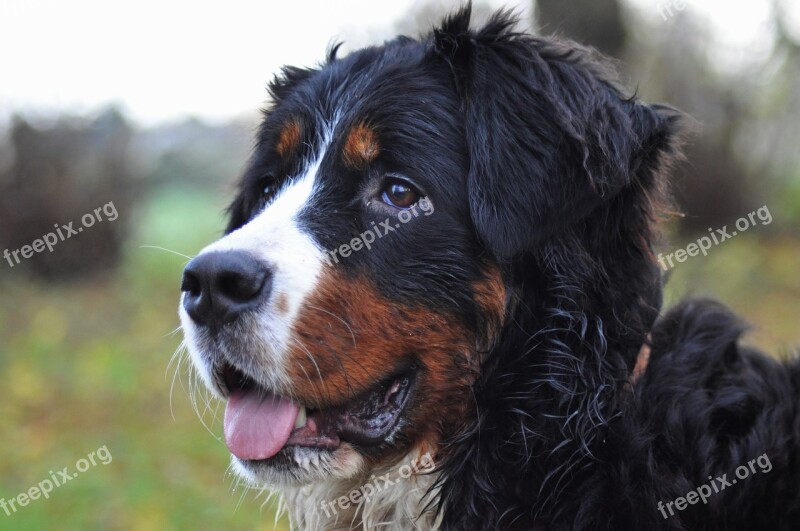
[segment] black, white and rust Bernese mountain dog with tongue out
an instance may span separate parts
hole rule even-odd
[[[470,12],[271,82],[181,286],[234,470],[295,529],[796,528],[798,363],[662,314],[687,120]]]

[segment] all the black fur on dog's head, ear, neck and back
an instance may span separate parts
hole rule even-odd
[[[320,117],[338,112],[343,126],[368,119],[381,154],[363,171],[323,160],[322,191],[301,215],[323,247],[385,217],[364,205],[387,172],[436,206],[430,223],[338,267],[470,330],[482,319],[471,286],[487,266],[502,272],[505,324],[482,353],[463,429],[443,434],[437,456],[429,501],[445,529],[796,528],[797,363],[739,346],[741,323],[713,302],[659,318],[654,226],[679,113],[625,95],[589,50],[515,32],[508,13],[480,30],[469,19],[467,7],[422,41],[286,69],[229,231],[259,211],[265,184],[308,160]],[[301,152],[281,161],[278,127],[298,116]],[[648,335],[650,364],[631,387]],[[769,473],[659,511],[763,454]]]

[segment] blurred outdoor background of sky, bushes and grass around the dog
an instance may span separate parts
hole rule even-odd
[[[0,509],[0,529],[273,529],[263,494],[225,473],[221,408],[193,406],[186,367],[170,364],[181,271],[223,229],[280,65],[313,65],[334,40],[416,36],[457,6],[0,0],[0,252],[83,228],[108,203],[118,213],[0,262],[0,498],[104,445],[113,455],[49,499]],[[749,342],[786,355],[800,339],[800,2],[475,11],[503,6],[613,56],[631,91],[695,117],[675,174],[684,216],[663,251],[761,207],[772,222],[676,264],[668,302],[720,297],[753,323]]]

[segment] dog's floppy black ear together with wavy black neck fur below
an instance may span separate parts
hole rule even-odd
[[[470,30],[466,7],[435,36],[464,97],[473,218],[510,293],[475,417],[444,449],[448,529],[570,516],[564,499],[593,481],[662,302],[652,249],[680,114],[624,96],[590,50],[513,24],[500,13]],[[519,120],[533,132],[515,129]],[[558,145],[543,159],[553,131]]]

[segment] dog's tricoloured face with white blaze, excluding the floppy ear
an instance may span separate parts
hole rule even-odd
[[[273,93],[229,232],[187,267],[181,320],[242,470],[350,476],[463,423],[505,294],[476,259],[440,59],[394,42]]]

